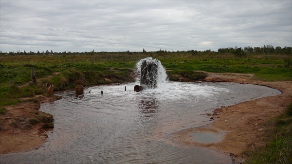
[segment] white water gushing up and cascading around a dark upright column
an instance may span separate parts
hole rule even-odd
[[[140,85],[144,88],[159,88],[167,81],[167,74],[161,62],[152,57],[141,59],[136,64]]]

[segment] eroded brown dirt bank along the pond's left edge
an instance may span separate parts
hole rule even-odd
[[[51,128],[53,116],[38,109],[41,103],[57,99],[60,97],[39,96],[5,107],[6,113],[0,115],[0,154],[40,147],[46,141],[46,129]]]

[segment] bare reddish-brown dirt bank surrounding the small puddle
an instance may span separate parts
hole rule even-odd
[[[171,140],[181,145],[210,147],[224,153],[243,156],[244,151],[265,145],[267,141],[273,139],[274,134],[269,131],[271,127],[264,123],[282,113],[291,102],[292,82],[257,81],[253,78],[253,74],[239,73],[208,73],[205,81],[264,85],[282,91],[282,94],[216,109],[215,114],[209,114],[210,118],[215,119],[212,124],[184,129],[173,134]],[[224,132],[225,135],[221,142],[203,144],[194,141],[191,137],[194,132]]]

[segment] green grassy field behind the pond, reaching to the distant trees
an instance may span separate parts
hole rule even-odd
[[[76,85],[97,85],[134,81],[137,61],[147,56],[159,59],[169,80],[180,77],[200,80],[205,77],[196,70],[215,73],[253,73],[266,81],[292,81],[291,55],[247,55],[214,52],[95,53],[94,55],[1,55],[0,107],[19,103],[20,97],[33,97],[54,84],[55,91]],[[31,81],[31,68],[36,70],[37,85]],[[110,79],[106,80],[106,79]]]

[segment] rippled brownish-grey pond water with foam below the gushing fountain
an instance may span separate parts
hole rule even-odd
[[[140,92],[134,85],[95,86],[79,98],[73,91],[56,93],[63,98],[40,108],[54,115],[47,142],[36,150],[1,155],[1,163],[231,164],[227,154],[179,146],[168,136],[210,124],[206,114],[216,108],[280,94],[237,83],[169,82]]]

